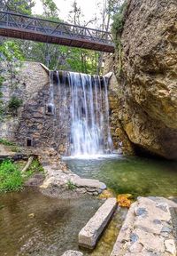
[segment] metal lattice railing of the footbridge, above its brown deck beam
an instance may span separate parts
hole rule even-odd
[[[28,30],[47,36],[78,38],[96,43],[113,44],[111,33],[104,30],[75,26],[60,21],[44,20],[14,12],[0,12],[0,27]]]

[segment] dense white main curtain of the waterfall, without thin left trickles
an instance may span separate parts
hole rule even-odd
[[[112,152],[107,82],[103,77],[69,72],[71,92],[71,155]]]

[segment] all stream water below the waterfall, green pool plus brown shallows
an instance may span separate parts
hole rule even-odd
[[[115,194],[177,197],[173,162],[123,156],[65,162],[82,177],[104,181]],[[78,233],[101,204],[93,197],[50,198],[32,188],[0,196],[0,255],[61,256],[65,250],[78,250]],[[125,214],[119,211],[96,250],[84,255],[108,256]]]

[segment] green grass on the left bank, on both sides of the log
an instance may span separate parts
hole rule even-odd
[[[23,188],[23,184],[34,173],[43,172],[42,165],[37,159],[33,161],[27,172],[22,173],[22,166],[18,163],[12,163],[11,160],[4,160],[0,164],[0,193],[9,191],[19,191]]]

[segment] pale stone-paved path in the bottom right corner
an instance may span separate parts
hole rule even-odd
[[[177,204],[163,197],[138,197],[111,256],[176,256],[171,207]]]

